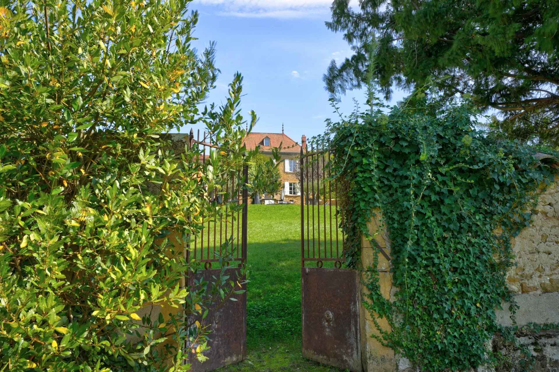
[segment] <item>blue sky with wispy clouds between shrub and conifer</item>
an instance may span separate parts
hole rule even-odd
[[[235,71],[244,77],[243,115],[254,109],[256,132],[285,132],[293,140],[317,135],[325,118],[335,118],[323,74],[331,59],[339,62],[352,54],[342,34],[326,28],[331,0],[194,0],[200,12],[195,31],[198,50],[216,42],[216,65],[221,70],[217,88],[208,103],[221,103]],[[402,93],[394,94],[394,101]],[[342,112],[353,110],[354,90],[342,98]],[[181,132],[187,132],[184,127]]]

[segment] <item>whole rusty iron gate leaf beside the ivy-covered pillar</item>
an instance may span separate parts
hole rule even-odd
[[[342,268],[338,185],[329,166],[335,151],[314,147],[301,149],[300,159],[302,354],[361,371],[358,275]]]

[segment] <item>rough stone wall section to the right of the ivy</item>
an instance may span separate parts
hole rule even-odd
[[[513,240],[516,266],[507,275],[511,292],[516,293],[519,309],[517,326],[559,324],[559,177],[538,199],[532,224]],[[501,325],[512,326],[508,304],[497,312]],[[518,332],[518,344],[533,355],[532,370],[559,371],[559,332]],[[493,340],[493,350],[504,355],[498,372],[520,371],[522,357],[518,350],[499,338]]]

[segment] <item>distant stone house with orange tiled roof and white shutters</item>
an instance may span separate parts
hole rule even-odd
[[[301,145],[293,141],[282,131],[281,133],[249,133],[244,140],[248,150],[260,146],[260,153],[271,156],[273,147],[281,147],[281,162],[278,166],[282,182],[281,191],[275,195],[260,195],[263,202],[301,204],[301,188],[299,181],[299,155]],[[306,136],[301,137],[301,144],[306,146]]]

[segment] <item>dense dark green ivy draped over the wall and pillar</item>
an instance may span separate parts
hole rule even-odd
[[[361,235],[373,211],[391,241],[395,300],[368,271],[367,308],[392,328],[380,339],[423,370],[495,363],[487,342],[503,331],[495,309],[514,299],[506,271],[510,239],[530,223],[555,169],[522,146],[475,128],[470,106],[401,104],[329,123],[343,180],[347,262],[359,267]],[[328,134],[327,134],[328,135]],[[556,155],[556,154],[555,154]],[[379,252],[377,252],[379,253]]]

